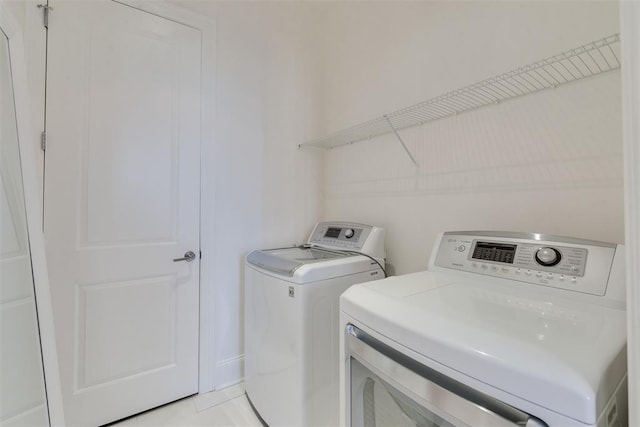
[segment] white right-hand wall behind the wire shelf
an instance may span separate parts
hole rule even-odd
[[[616,2],[331,3],[320,94],[330,132],[619,31]],[[622,242],[620,73],[328,152],[325,216],[387,228],[391,272],[436,233]]]

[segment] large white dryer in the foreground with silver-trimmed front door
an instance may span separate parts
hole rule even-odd
[[[427,271],[340,308],[342,425],[627,425],[620,245],[442,233]]]

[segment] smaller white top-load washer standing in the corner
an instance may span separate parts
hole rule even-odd
[[[383,228],[322,222],[307,244],[245,259],[245,389],[271,426],[335,426],[339,296],[385,276]]]

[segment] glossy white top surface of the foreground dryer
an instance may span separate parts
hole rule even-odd
[[[468,377],[596,423],[626,374],[625,311],[499,282],[434,272],[396,276],[351,287],[340,306]]]

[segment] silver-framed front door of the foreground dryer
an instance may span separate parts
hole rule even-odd
[[[347,408],[353,427],[547,426],[419,364],[353,325],[347,327],[347,346]]]

